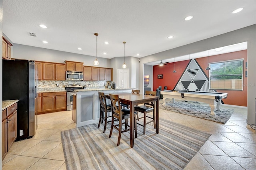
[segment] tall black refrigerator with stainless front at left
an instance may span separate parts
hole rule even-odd
[[[35,62],[3,59],[3,101],[18,99],[17,139],[35,134]]]

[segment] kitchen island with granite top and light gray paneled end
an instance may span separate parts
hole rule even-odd
[[[132,89],[81,89],[74,90],[76,92],[76,112],[73,112],[75,117],[76,127],[82,127],[92,123],[98,123],[100,117],[100,101],[98,91],[109,93],[131,93]],[[110,100],[106,99],[110,104]],[[74,103],[73,103],[74,105]]]

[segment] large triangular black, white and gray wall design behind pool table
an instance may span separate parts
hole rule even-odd
[[[191,71],[188,71],[188,68],[190,68]],[[180,80],[174,87],[174,90],[215,92],[209,89],[208,77],[195,59],[191,59]]]

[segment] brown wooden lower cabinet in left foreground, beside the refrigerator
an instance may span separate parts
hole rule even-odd
[[[17,103],[2,111],[2,160],[17,138]]]

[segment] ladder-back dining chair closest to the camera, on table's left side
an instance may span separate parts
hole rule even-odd
[[[119,132],[118,134],[118,142],[117,146],[120,144],[121,139],[121,133],[130,131],[130,129],[127,129],[127,127],[130,127],[128,125],[128,119],[130,118],[130,110],[129,109],[122,109],[120,105],[119,95],[113,95],[109,94],[111,106],[112,106],[112,122],[111,122],[111,129],[109,137],[112,135],[113,127],[116,128]],[[134,130],[135,130],[135,138],[137,138],[137,121],[136,121],[136,112],[134,112]],[[118,119],[119,124],[114,125],[114,118]],[[122,123],[122,120],[124,120],[124,123]],[[125,130],[122,130],[122,125],[125,124]]]

